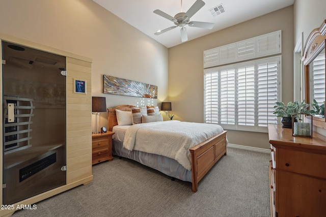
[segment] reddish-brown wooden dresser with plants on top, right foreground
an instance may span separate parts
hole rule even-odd
[[[326,216],[325,137],[293,137],[268,125],[271,216]]]

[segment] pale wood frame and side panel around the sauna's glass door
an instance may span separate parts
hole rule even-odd
[[[1,41],[8,41],[18,45],[28,46],[35,49],[43,50],[46,52],[66,56],[66,91],[67,91],[67,111],[66,111],[66,165],[67,176],[66,184],[20,201],[13,204],[28,205],[34,204],[38,201],[44,200],[53,195],[59,194],[66,190],[72,189],[80,184],[87,184],[93,180],[92,175],[92,59],[79,56],[73,53],[51,48],[35,42],[26,41],[16,37],[12,37],[0,33],[0,50]],[[0,52],[0,59],[2,59],[2,52]],[[87,93],[78,94],[73,92],[73,79],[86,80]],[[0,86],[2,86],[2,67],[0,67]],[[2,88],[0,88],[0,98],[2,99]],[[3,108],[0,106],[2,114]],[[0,121],[3,122],[2,115]],[[3,137],[0,131],[0,137]],[[3,144],[0,146],[0,152],[3,152]],[[3,162],[0,161],[0,180],[3,183]],[[2,188],[0,190],[0,203],[2,201]],[[9,216],[15,210],[2,209],[0,216]]]

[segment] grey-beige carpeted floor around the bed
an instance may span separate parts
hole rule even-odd
[[[228,148],[193,193],[191,182],[115,157],[93,166],[92,183],[13,216],[270,216],[269,159],[267,153]]]

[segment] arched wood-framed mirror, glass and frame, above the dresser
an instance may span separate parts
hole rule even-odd
[[[326,20],[312,30],[307,38],[302,61],[305,70],[305,101],[313,105],[316,112],[314,125],[326,126],[325,122],[325,41]]]

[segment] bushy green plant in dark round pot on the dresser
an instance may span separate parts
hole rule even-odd
[[[287,104],[284,104],[283,102],[276,102],[276,105],[274,106],[275,111],[273,114],[277,114],[278,117],[282,117],[281,122],[283,127],[292,128],[292,114],[314,113],[314,111],[310,110],[309,107],[310,104],[305,103],[304,100],[301,103],[299,103],[298,101],[288,102]]]

